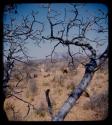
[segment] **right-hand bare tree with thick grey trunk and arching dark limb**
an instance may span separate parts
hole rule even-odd
[[[107,27],[102,26],[101,21],[107,20],[107,16],[105,16],[104,13],[101,12],[101,16],[94,16],[94,17],[88,17],[86,20],[84,17],[80,18],[80,11],[78,10],[78,7],[75,4],[72,4],[73,10],[71,10],[71,13],[74,15],[71,17],[71,19],[68,20],[68,22],[56,22],[54,23],[52,20],[54,19],[56,21],[55,17],[51,17],[50,14],[52,13],[51,6],[48,7],[48,16],[47,19],[50,24],[50,34],[49,36],[42,36],[45,40],[50,40],[51,42],[57,41],[58,44],[56,44],[56,47],[58,45],[64,45],[68,48],[68,54],[71,57],[71,62],[74,63],[73,54],[71,53],[70,46],[77,46],[81,47],[82,50],[84,50],[87,57],[89,57],[89,63],[84,64],[85,65],[85,73],[80,81],[79,85],[72,91],[68,99],[65,101],[63,106],[60,108],[59,112],[53,117],[53,121],[62,121],[64,120],[65,116],[69,113],[71,108],[75,105],[77,99],[81,96],[82,92],[85,91],[86,87],[90,84],[91,79],[93,78],[93,75],[97,68],[102,64],[102,62],[108,57],[107,50],[97,58],[97,51],[92,46],[90,42],[97,43],[98,40],[91,40],[89,37],[87,37],[88,32],[93,31],[93,29],[96,29],[98,33],[105,33],[107,31]],[[66,18],[66,17],[65,17]],[[65,21],[64,18],[64,21]],[[62,33],[61,36],[56,35],[56,30],[54,26],[62,25],[62,29],[58,30],[58,33]],[[102,28],[103,27],[103,28]],[[105,27],[105,28],[104,28]],[[73,31],[73,28],[78,29]],[[106,30],[105,30],[106,29]],[[74,32],[74,35],[71,36],[71,32]],[[75,32],[77,32],[75,34]],[[54,52],[55,47],[52,50],[52,53]],[[86,52],[89,51],[89,53]]]

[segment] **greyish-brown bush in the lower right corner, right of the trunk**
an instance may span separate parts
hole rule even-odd
[[[90,97],[90,101],[83,106],[85,110],[91,109],[98,113],[98,117],[105,119],[108,115],[108,92],[105,91]]]

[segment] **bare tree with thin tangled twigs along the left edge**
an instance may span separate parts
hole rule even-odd
[[[23,16],[20,22],[17,21],[17,13],[17,6],[15,4],[6,5],[4,8],[4,78],[2,101],[4,102],[6,97],[9,98],[12,96],[19,99],[20,101],[23,101],[28,105],[28,115],[31,106],[33,107],[33,109],[36,109],[34,105],[17,96],[17,94],[21,93],[22,91],[16,92],[15,89],[13,89],[13,91],[7,93],[7,90],[10,89],[9,81],[14,70],[17,70],[19,75],[21,74],[21,79],[15,84],[16,88],[18,87],[19,83],[23,80],[22,72],[21,70],[16,69],[16,64],[19,62],[28,65],[29,58],[31,57],[29,57],[27,54],[27,39],[35,40],[37,45],[39,45],[39,42],[41,41],[41,32],[43,31],[44,27],[43,24],[37,20],[38,12],[32,11],[30,16]],[[9,18],[8,21],[5,20],[5,18],[7,17]]]

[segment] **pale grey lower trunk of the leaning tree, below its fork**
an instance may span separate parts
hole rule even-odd
[[[71,108],[75,105],[77,99],[81,96],[81,94],[84,92],[88,84],[90,83],[93,72],[88,73],[85,72],[83,79],[81,80],[80,84],[73,90],[73,92],[70,94],[58,114],[53,118],[53,121],[62,121],[65,116],[69,113]]]

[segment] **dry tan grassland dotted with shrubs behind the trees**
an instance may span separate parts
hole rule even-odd
[[[106,64],[107,65],[107,64]],[[9,120],[22,121],[50,121],[45,91],[50,89],[50,98],[54,115],[59,111],[70,92],[79,84],[84,74],[83,65],[79,64],[75,70],[67,69],[64,62],[40,63],[29,66],[17,65],[22,71],[24,79],[16,86],[20,75],[15,72],[9,82],[10,89],[22,91],[15,94],[23,100],[33,104],[27,117],[28,105],[15,97],[5,100],[4,108]],[[66,69],[67,72],[64,72]],[[26,77],[30,75],[30,79]],[[10,92],[10,90],[8,90]],[[108,67],[98,70],[76,105],[68,113],[65,121],[103,120],[108,115]]]

